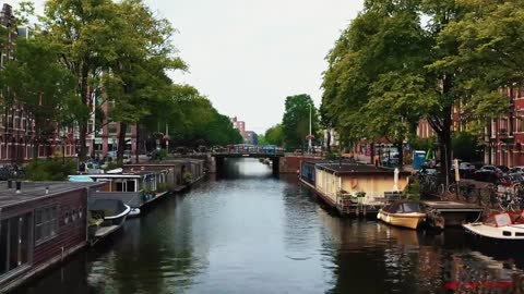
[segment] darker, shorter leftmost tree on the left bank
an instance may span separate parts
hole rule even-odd
[[[33,158],[38,146],[47,144],[57,128],[67,122],[64,110],[74,96],[74,77],[58,61],[56,46],[36,33],[16,44],[16,59],[0,72],[11,100],[24,106],[35,122]],[[14,118],[13,118],[14,120]]]

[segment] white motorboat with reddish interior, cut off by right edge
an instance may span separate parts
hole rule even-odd
[[[496,213],[486,219],[484,222],[472,222],[462,225],[466,232],[493,238],[505,241],[524,241],[524,212]]]

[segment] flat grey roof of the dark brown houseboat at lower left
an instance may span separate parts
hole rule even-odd
[[[12,182],[12,188],[8,188],[8,182],[0,182],[0,207],[51,197],[86,187],[98,187],[105,183],[22,182],[20,194],[16,194],[15,183]],[[49,188],[48,194],[46,194],[46,187]]]

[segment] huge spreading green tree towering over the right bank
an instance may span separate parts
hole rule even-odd
[[[419,119],[451,167],[452,109],[491,118],[520,85],[522,1],[367,0],[327,56],[322,117],[344,140],[407,138]],[[420,19],[420,15],[424,15]]]

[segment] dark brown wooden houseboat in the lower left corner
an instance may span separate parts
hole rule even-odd
[[[87,244],[87,198],[105,183],[0,183],[0,292]]]

